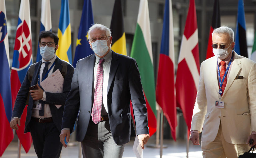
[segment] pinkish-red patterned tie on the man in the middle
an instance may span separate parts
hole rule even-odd
[[[92,120],[95,124],[101,121],[101,105],[102,105],[102,88],[103,88],[103,62],[104,59],[99,60],[96,76],[96,86],[94,93],[93,109],[91,112]]]

